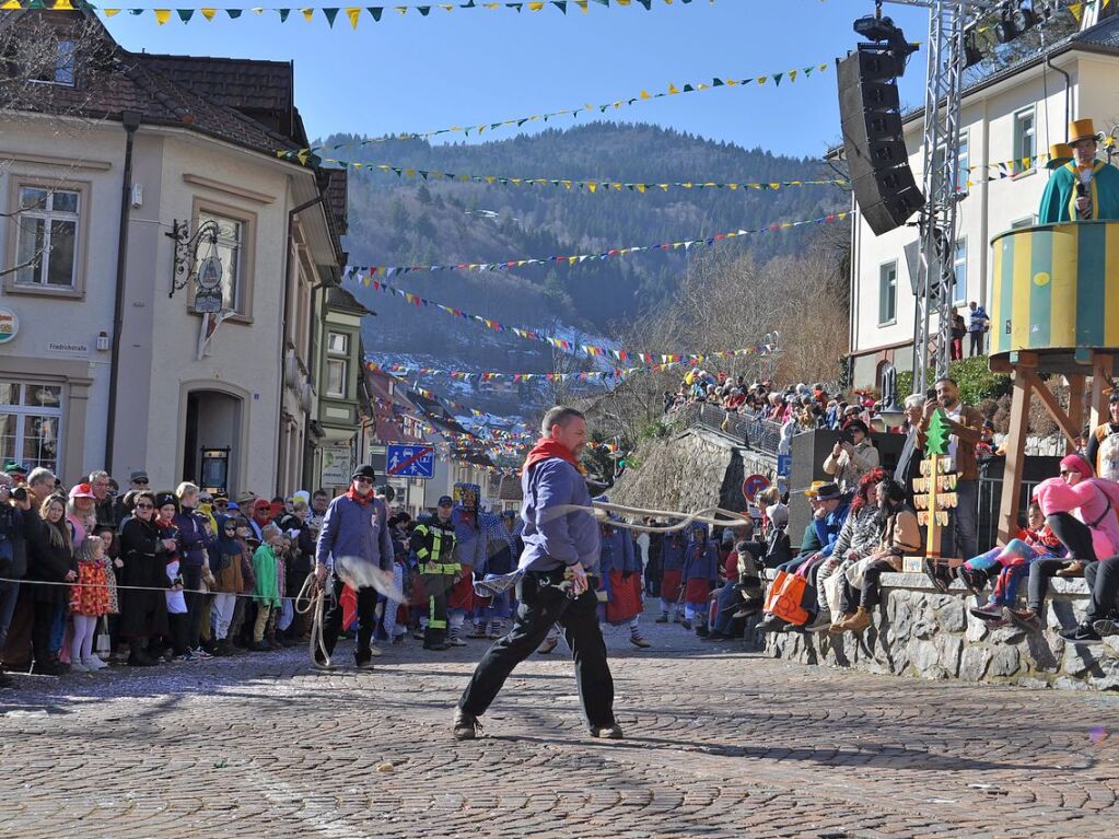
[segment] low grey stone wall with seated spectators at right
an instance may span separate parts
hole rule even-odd
[[[1088,587],[1083,579],[1052,581],[1041,633],[1014,625],[990,629],[968,613],[976,598],[959,583],[949,594],[941,594],[923,574],[885,574],[882,594],[873,624],[859,635],[769,633],[765,651],[802,664],[854,667],[891,676],[1119,689],[1119,638],[1074,644],[1057,635],[1084,615]]]

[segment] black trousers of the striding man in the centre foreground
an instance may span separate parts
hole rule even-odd
[[[547,638],[558,623],[575,662],[575,682],[583,714],[589,725],[614,724],[614,681],[606,662],[606,645],[599,629],[599,598],[590,591],[572,598],[555,586],[563,582],[563,571],[529,572],[517,586],[517,618],[505,638],[493,642],[478,662],[470,684],[459,699],[459,707],[481,716],[497,697],[505,680]]]

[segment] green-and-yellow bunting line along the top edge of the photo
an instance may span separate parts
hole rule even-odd
[[[658,0],[656,6],[673,6],[674,2],[679,2],[681,6],[689,6],[695,0]],[[507,10],[515,12],[538,12],[546,8],[557,9],[561,13],[567,13],[567,7],[574,7],[583,15],[590,12],[591,9],[602,7],[602,8],[626,8],[631,6],[639,6],[646,11],[650,11],[653,7],[653,0],[520,0],[519,2],[509,2],[509,0],[502,0],[501,2],[492,2],[488,0],[467,0],[467,2],[458,3],[441,3],[441,2],[430,2],[430,3],[394,3],[392,6],[307,6],[307,7],[271,7],[271,6],[242,6],[236,8],[216,8],[216,7],[179,7],[175,9],[153,9],[151,7],[97,7],[90,2],[84,2],[84,0],[3,0],[0,2],[0,9],[3,10],[28,10],[28,9],[48,9],[55,11],[76,11],[78,9],[88,9],[102,15],[106,18],[115,17],[121,12],[125,15],[133,15],[137,17],[144,16],[148,13],[152,15],[152,18],[159,26],[163,26],[171,20],[172,13],[175,18],[182,21],[184,23],[189,23],[191,18],[194,18],[197,11],[199,16],[207,20],[213,21],[219,15],[224,15],[229,20],[238,20],[246,11],[253,15],[261,16],[264,12],[275,12],[280,17],[281,22],[285,22],[290,17],[292,11],[299,12],[304,20],[310,22],[314,18],[316,12],[321,12],[322,18],[327,21],[330,27],[333,27],[335,20],[338,18],[338,12],[345,12],[345,17],[349,20],[350,26],[357,29],[358,22],[361,19],[363,13],[368,13],[375,22],[380,22],[386,11],[394,11],[397,15],[406,16],[408,12],[415,12],[420,17],[427,17],[433,10],[442,10],[444,12],[452,12],[459,9],[486,9],[488,11]],[[698,3],[697,3],[698,4]],[[714,6],[715,0],[707,0],[707,6]],[[389,16],[391,17],[391,16]]]

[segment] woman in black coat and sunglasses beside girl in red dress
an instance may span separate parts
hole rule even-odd
[[[156,494],[148,490],[132,497],[132,516],[121,528],[120,607],[117,632],[129,641],[129,664],[151,667],[158,663],[149,639],[168,634],[167,597],[171,587],[167,576],[167,556],[176,550],[175,539],[160,538],[156,522]],[[142,591],[131,588],[139,586]]]

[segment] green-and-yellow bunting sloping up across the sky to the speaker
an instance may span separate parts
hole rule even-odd
[[[15,0],[12,0],[15,1]],[[617,0],[614,0],[617,2]],[[752,76],[750,78],[712,78],[711,82],[693,82],[683,85],[677,85],[675,83],[669,83],[667,89],[658,91],[657,93],[649,93],[648,89],[642,89],[639,94],[629,96],[627,98],[614,100],[613,102],[606,102],[599,105],[580,105],[579,107],[562,109],[560,111],[551,111],[548,113],[530,114],[528,116],[517,116],[511,120],[498,120],[496,122],[482,122],[470,125],[451,125],[444,129],[435,129],[434,131],[420,131],[416,133],[403,133],[403,134],[388,134],[385,136],[372,136],[364,140],[351,140],[345,143],[335,143],[332,145],[312,145],[305,149],[278,149],[275,154],[278,158],[284,160],[298,160],[303,166],[308,164],[308,161],[318,162],[312,159],[318,157],[318,152],[335,152],[339,149],[352,149],[361,148],[365,145],[373,145],[375,143],[387,143],[393,140],[427,140],[433,136],[439,136],[441,134],[453,134],[462,133],[469,136],[471,133],[481,134],[486,131],[497,131],[498,129],[508,128],[523,128],[530,122],[548,122],[558,116],[571,116],[577,117],[580,114],[604,114],[606,111],[620,110],[622,107],[629,107],[638,104],[639,102],[650,102],[652,100],[665,98],[667,96],[678,96],[685,93],[699,93],[700,91],[713,91],[720,87],[745,87],[747,85],[756,85],[758,87],[763,87],[770,82],[772,82],[773,87],[780,87],[782,81],[787,81],[789,84],[794,83],[798,78],[809,78],[814,73],[825,73],[828,67],[831,66],[830,63],[824,62],[820,64],[815,64],[808,67],[798,67],[794,69],[787,69],[780,73],[770,73],[764,76]]]

